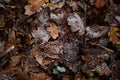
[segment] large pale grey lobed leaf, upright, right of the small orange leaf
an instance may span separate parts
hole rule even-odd
[[[83,35],[85,33],[84,23],[77,13],[70,14],[67,18],[67,22],[68,25],[71,26],[72,32],[79,31],[79,35]]]

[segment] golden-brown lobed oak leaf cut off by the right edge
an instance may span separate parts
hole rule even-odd
[[[108,32],[109,41],[111,41],[113,44],[120,44],[120,39],[118,38],[120,37],[120,34],[117,31],[119,31],[119,29],[112,26]]]

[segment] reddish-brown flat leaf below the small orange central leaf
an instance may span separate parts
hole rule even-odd
[[[48,42],[40,46],[40,49],[43,52],[42,54],[46,57],[57,59],[59,55],[63,53],[63,45],[59,42]]]

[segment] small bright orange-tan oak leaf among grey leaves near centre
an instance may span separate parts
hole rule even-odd
[[[50,32],[50,35],[53,39],[56,39],[59,36],[58,27],[56,26],[55,23],[50,24],[48,31]]]

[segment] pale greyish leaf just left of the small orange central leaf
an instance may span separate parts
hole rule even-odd
[[[32,32],[32,36],[36,39],[36,40],[43,40],[43,41],[48,41],[50,36],[47,33],[47,31],[44,28],[38,28],[38,30],[34,30]]]

